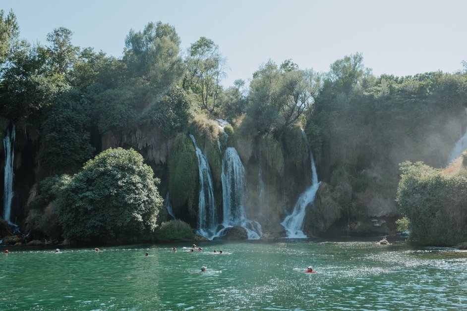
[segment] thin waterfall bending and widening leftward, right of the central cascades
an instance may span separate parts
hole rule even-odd
[[[306,145],[308,146],[308,140],[306,139],[305,132],[302,131],[303,138],[305,139]],[[310,153],[310,162],[311,162],[311,173],[312,181],[311,186],[303,192],[298,198],[295,206],[293,207],[292,214],[288,215],[281,225],[287,231],[287,237],[292,238],[306,238],[307,236],[303,233],[303,220],[305,218],[306,207],[313,203],[315,200],[316,192],[318,191],[320,182],[318,182],[318,174],[316,173],[315,161],[313,158],[313,153],[311,152],[309,146],[308,150]]]

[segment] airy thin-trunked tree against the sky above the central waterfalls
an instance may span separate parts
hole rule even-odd
[[[213,112],[219,104],[221,81],[226,77],[226,59],[219,52],[219,46],[206,37],[199,38],[188,52],[183,87],[191,89],[198,95],[203,107]]]

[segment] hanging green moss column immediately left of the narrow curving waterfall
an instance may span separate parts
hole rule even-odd
[[[169,156],[169,193],[176,214],[191,217],[197,213],[198,165],[193,142],[186,134],[178,134]]]

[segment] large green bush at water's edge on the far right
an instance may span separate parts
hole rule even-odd
[[[418,241],[452,246],[467,240],[467,174],[443,174],[422,162],[401,164],[397,202]],[[447,225],[449,224],[449,225]]]

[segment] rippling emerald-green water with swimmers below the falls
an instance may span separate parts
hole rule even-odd
[[[196,253],[182,246],[10,248],[0,254],[0,310],[467,309],[467,253],[454,249],[317,240],[207,242]],[[202,265],[208,270],[197,273]],[[318,272],[302,273],[308,265]]]

